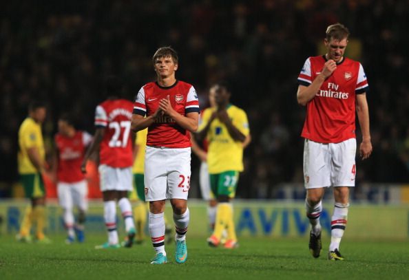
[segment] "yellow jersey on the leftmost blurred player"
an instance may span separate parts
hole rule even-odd
[[[19,173],[32,174],[39,172],[30,158],[28,158],[28,149],[36,147],[39,151],[40,158],[45,160],[45,149],[41,125],[36,123],[32,118],[25,118],[19,129]]]

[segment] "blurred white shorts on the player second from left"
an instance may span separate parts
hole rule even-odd
[[[58,182],[59,204],[64,209],[77,206],[82,211],[88,208],[88,184],[86,180],[75,183]]]

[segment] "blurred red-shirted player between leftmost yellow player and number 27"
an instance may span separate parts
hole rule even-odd
[[[67,229],[67,244],[72,244],[75,235],[79,242],[84,241],[85,213],[88,208],[88,186],[81,172],[81,163],[92,136],[74,127],[72,116],[63,114],[58,121],[59,132],[54,137],[57,192],[59,204],[63,208],[64,225]],[[74,219],[74,206],[78,217]]]

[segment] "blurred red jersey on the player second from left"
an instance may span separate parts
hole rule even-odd
[[[59,182],[74,183],[84,180],[81,162],[85,155],[85,148],[90,144],[92,136],[85,131],[76,131],[74,137],[56,133],[54,140],[59,153],[57,168]]]

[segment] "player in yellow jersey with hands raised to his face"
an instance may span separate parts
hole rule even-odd
[[[243,145],[250,141],[247,114],[231,105],[231,92],[224,83],[211,87],[216,107],[204,111],[197,139],[209,141],[207,164],[210,184],[218,201],[216,223],[209,237],[210,246],[218,246],[224,229],[227,229],[225,248],[235,248],[238,240],[235,235],[233,208],[231,200],[235,196],[239,172],[243,171]]]

